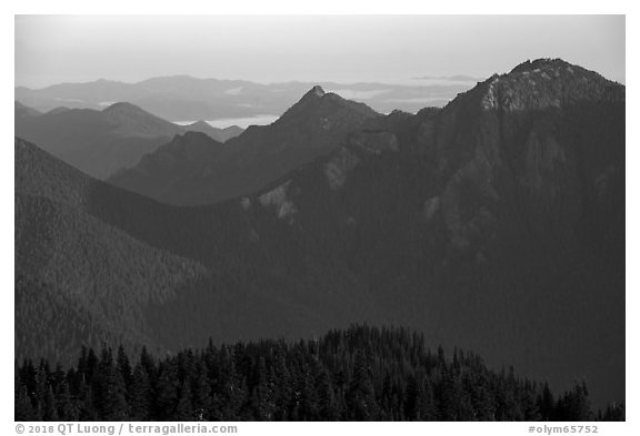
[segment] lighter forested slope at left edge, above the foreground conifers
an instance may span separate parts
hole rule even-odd
[[[88,196],[98,184],[16,140],[17,358],[103,341],[153,345],[141,307],[204,273],[100,220]]]

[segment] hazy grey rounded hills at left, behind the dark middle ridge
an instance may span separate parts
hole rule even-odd
[[[130,103],[92,109],[57,108],[40,113],[16,102],[16,135],[39,144],[94,178],[133,166],[140,158],[187,131],[227,141],[242,130],[216,129],[204,122],[176,125]]]

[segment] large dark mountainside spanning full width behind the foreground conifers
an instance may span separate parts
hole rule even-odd
[[[38,298],[43,286],[78,302],[64,304],[79,307],[73,318],[106,318],[74,329],[78,341],[121,323],[97,310],[117,298],[136,311],[127,337],[166,349],[367,321],[417,328],[428,344],[474,349],[557,388],[586,378],[596,402],[624,397],[624,87],[594,72],[527,62],[442,110],[367,118],[328,155],[209,206],[160,204],[22,141],[16,148],[17,202],[32,199],[17,206],[16,267],[26,277],[17,293]],[[52,225],[53,206],[40,203],[68,215],[56,212]],[[78,230],[84,222],[137,251],[96,253],[92,237],[70,250],[64,240],[94,233]],[[28,245],[38,232],[47,244]],[[127,265],[102,266],[109,252]],[[179,267],[172,281],[163,263],[132,271],[149,257]],[[120,285],[109,292],[94,271]],[[156,288],[167,291],[139,297]],[[37,307],[17,313],[17,337]],[[43,342],[69,337],[41,332]],[[29,344],[17,342],[17,355],[51,349]],[[67,349],[49,357],[73,358]]]

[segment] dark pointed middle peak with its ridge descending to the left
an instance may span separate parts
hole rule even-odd
[[[176,136],[109,182],[171,204],[216,203],[261,190],[377,116],[362,103],[314,87],[274,123],[250,126],[224,148],[202,135]]]

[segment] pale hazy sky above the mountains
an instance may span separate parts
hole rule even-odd
[[[562,58],[624,82],[623,16],[18,16],[16,84],[484,78]]]

